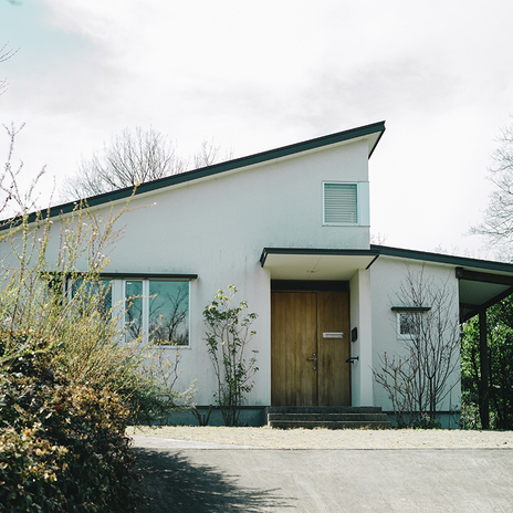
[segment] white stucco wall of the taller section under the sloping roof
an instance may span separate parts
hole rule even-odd
[[[250,348],[259,350],[260,370],[249,404],[270,405],[270,275],[260,266],[260,254],[264,247],[368,249],[368,226],[322,226],[323,181],[366,182],[367,160],[367,142],[355,140],[133,199],[118,222],[124,237],[112,248],[105,271],[198,274],[190,285],[190,347],[180,349],[179,386],[197,379],[199,405],[213,401],[216,384],[201,312],[218,289],[231,283],[240,291],[237,299],[259,315]],[[109,208],[94,211],[106,214]],[[366,308],[362,318],[368,317]],[[360,392],[362,400],[367,396],[368,390]]]

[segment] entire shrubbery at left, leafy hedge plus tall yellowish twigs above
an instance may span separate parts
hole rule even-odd
[[[8,132],[0,214],[17,216],[0,221],[0,512],[129,512],[126,425],[179,396],[143,365],[140,341],[124,343],[123,307],[105,310],[100,275],[127,205],[102,217],[77,202],[55,223],[48,212],[29,222],[35,182],[19,191]]]

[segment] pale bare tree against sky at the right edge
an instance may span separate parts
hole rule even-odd
[[[513,124],[502,129],[499,148],[492,154],[490,180],[495,186],[484,212],[484,221],[471,229],[486,235],[491,243],[507,249],[511,256],[513,242]]]

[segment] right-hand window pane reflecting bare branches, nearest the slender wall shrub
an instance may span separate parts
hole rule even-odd
[[[149,282],[149,338],[153,344],[189,345],[189,282]]]

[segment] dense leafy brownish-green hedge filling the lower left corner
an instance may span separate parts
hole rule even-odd
[[[134,511],[128,410],[53,362],[52,349],[25,350],[0,369],[0,512]]]

